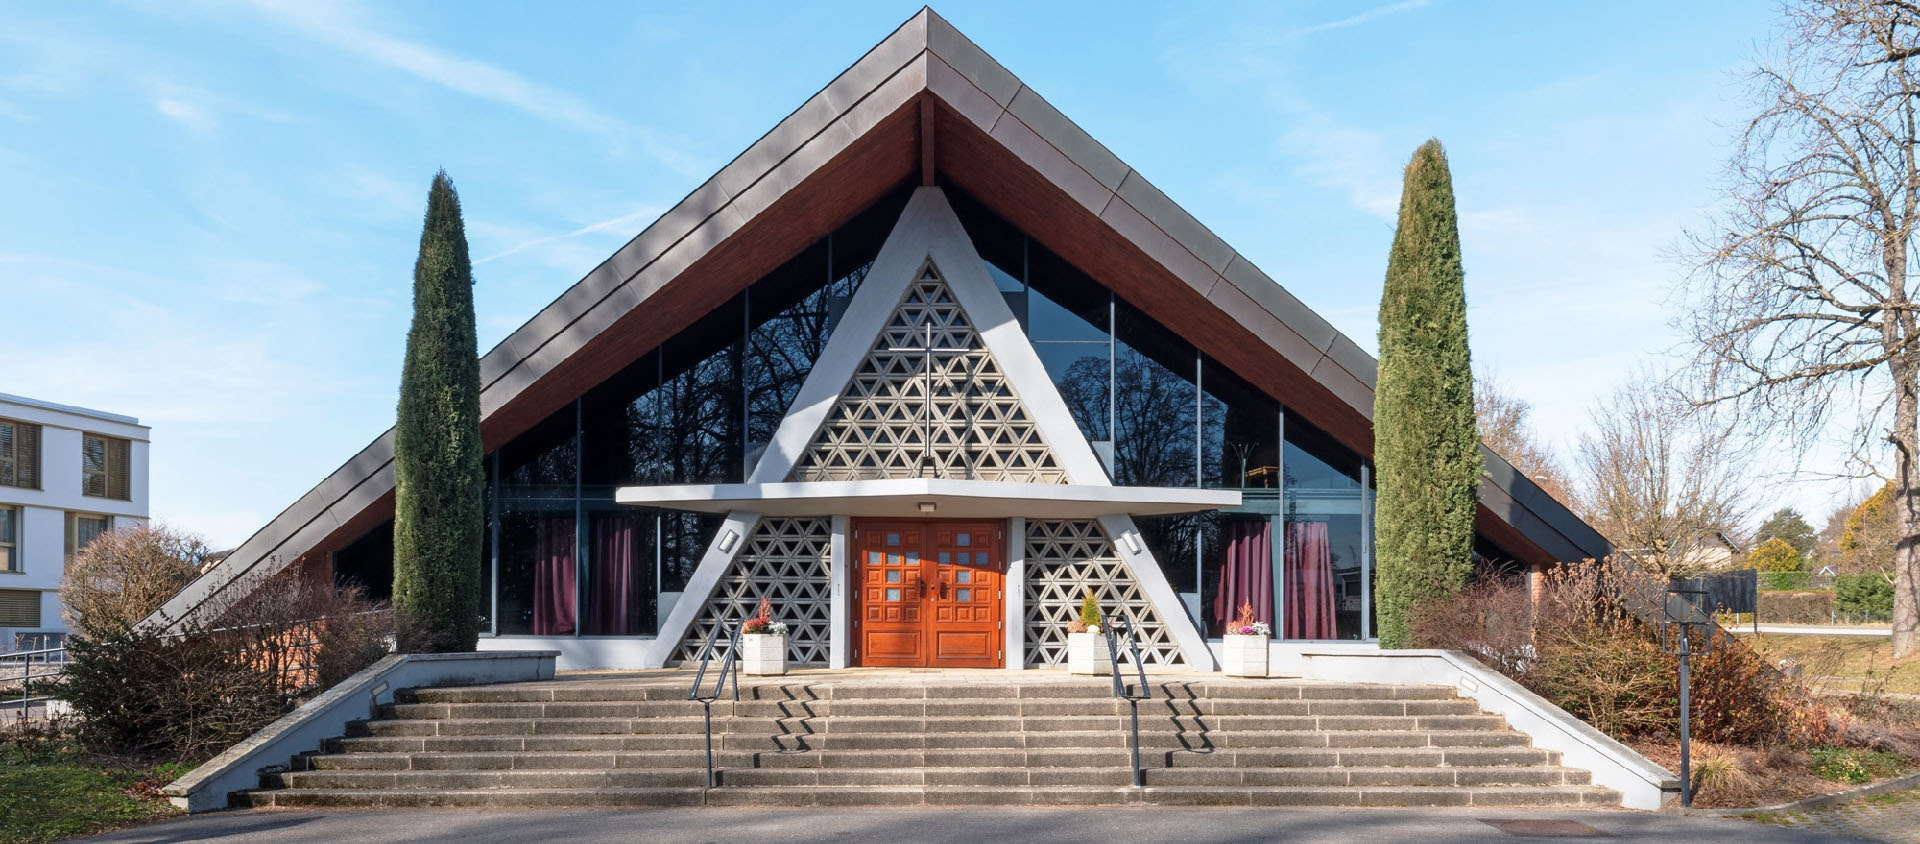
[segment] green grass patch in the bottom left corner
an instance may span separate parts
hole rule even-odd
[[[177,815],[159,786],[190,763],[123,762],[0,746],[0,844],[50,842]]]

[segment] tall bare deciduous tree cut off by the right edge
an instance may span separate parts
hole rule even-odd
[[[1920,645],[1920,4],[1786,10],[1751,73],[1759,115],[1728,167],[1728,209],[1695,234],[1695,401],[1805,449],[1849,428],[1862,466],[1891,449],[1899,520],[1893,652]]]

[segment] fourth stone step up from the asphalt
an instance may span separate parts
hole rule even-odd
[[[1125,748],[1125,731],[1056,733],[920,733],[920,735],[714,735],[716,750],[916,750],[916,748]],[[1140,733],[1142,748],[1448,748],[1526,746],[1517,731],[1248,731]],[[691,735],[572,735],[572,737],[357,737],[326,742],[328,754],[612,754],[703,750]]]

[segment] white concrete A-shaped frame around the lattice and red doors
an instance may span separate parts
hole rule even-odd
[[[1020,322],[1014,318],[1014,311],[1006,307],[1006,299],[1000,297],[998,288],[993,284],[987,263],[973,249],[973,240],[968,238],[960,217],[954,215],[952,205],[939,188],[914,190],[893,232],[887,234],[885,246],[879,247],[879,255],[874,259],[866,280],[847,305],[847,315],[841,316],[833,336],[828,338],[826,349],[814,361],[814,368],[801,384],[793,407],[787,409],[787,416],[780,422],[774,439],[760,455],[760,462],[753,468],[747,481],[778,483],[793,472],[803,451],[812,445],[833,403],[839,401],[860,363],[874,349],[887,320],[900,307],[908,286],[914,284],[927,263],[937,267],[947,280],[954,301],[966,313],[968,320],[973,322],[973,330],[979,334],[987,353],[1000,364],[1014,395],[1027,407],[1035,426],[1052,449],[1054,460],[1066,470],[1068,481],[1112,485],[1092,445],[1081,434],[1079,424],[1073,422],[1066,399],[1060,397],[1052,378],[1046,374],[1046,366],[1041,364],[1039,353],[1027,341],[1025,332],[1020,330]],[[699,568],[687,579],[687,589],[682,593],[680,602],[674,604],[666,621],[660,623],[660,635],[653,648],[655,666],[664,666],[672,658],[672,652],[680,646],[680,639],[685,637],[693,620],[705,612],[707,602],[712,600],[714,587],[733,564],[735,554],[747,545],[747,537],[758,522],[760,516],[755,512],[728,514],[707,554],[701,556]],[[1194,627],[1179,595],[1173,593],[1160,564],[1146,549],[1146,543],[1140,541],[1133,518],[1125,514],[1102,516],[1100,529],[1106,531],[1121,564],[1125,564],[1127,572],[1152,600],[1154,612],[1160,614],[1160,621],[1171,631],[1187,666],[1212,669],[1213,656],[1206,646],[1206,637]],[[835,598],[851,600],[845,593],[835,593]],[[1008,623],[1023,621],[1010,620]]]

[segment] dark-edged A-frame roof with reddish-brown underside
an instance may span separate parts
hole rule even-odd
[[[916,180],[973,196],[1332,437],[1373,453],[1371,355],[925,8],[482,357],[486,447]],[[390,518],[392,455],[388,432],[161,614],[180,618],[236,581],[334,551]],[[1611,551],[1505,460],[1482,457],[1475,526],[1484,535],[1536,562]]]

